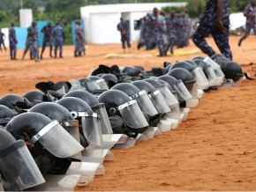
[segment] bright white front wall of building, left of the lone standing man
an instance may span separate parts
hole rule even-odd
[[[121,35],[117,31],[117,24],[120,21],[121,13],[94,13],[90,17],[90,39],[89,43],[105,44],[120,43]]]

